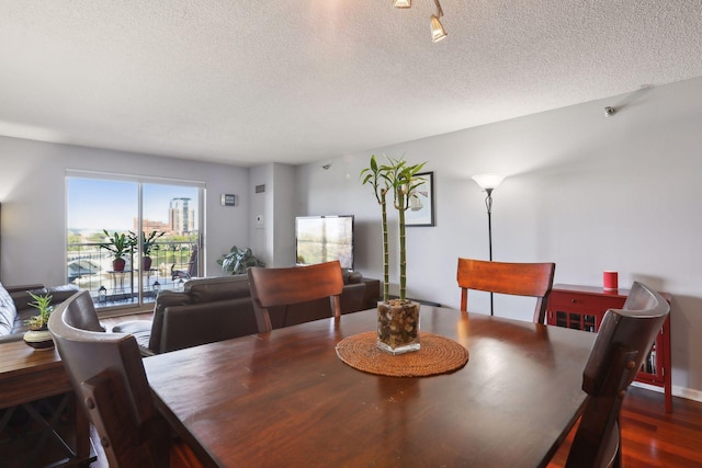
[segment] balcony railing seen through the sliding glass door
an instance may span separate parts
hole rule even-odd
[[[127,255],[123,272],[112,267],[112,253],[100,243],[69,243],[68,283],[90,290],[98,307],[152,301],[158,290],[181,289],[184,279],[199,276],[196,242],[163,241],[151,249],[150,267],[136,253]]]

